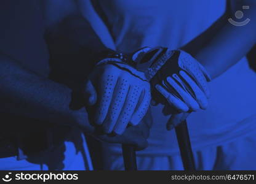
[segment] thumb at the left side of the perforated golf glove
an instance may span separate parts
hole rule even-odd
[[[84,88],[84,99],[87,105],[94,105],[97,101],[97,92],[90,80],[87,80],[86,87]]]

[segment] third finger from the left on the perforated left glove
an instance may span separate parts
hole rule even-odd
[[[118,121],[113,129],[113,131],[116,134],[122,134],[126,129],[126,126],[128,125],[132,117],[132,114],[135,111],[135,107],[138,104],[138,100],[140,98],[139,94],[141,92],[142,92],[142,88],[140,88],[139,86],[137,85],[130,86],[127,94],[126,102],[122,107],[122,111],[119,115]]]

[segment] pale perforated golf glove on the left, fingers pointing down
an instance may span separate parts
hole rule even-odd
[[[106,133],[122,134],[127,124],[137,125],[150,105],[150,83],[143,72],[126,62],[122,54],[108,55],[95,68],[97,107],[94,121]]]

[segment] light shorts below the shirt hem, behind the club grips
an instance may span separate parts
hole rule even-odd
[[[193,150],[196,170],[256,170],[255,131],[222,145]],[[138,170],[183,170],[179,154],[137,156]],[[122,155],[107,154],[105,169],[124,170]]]

